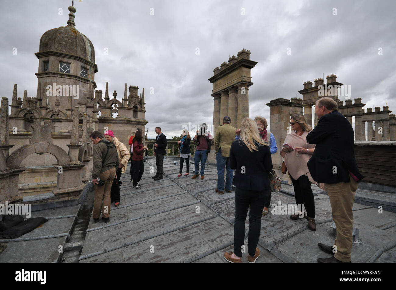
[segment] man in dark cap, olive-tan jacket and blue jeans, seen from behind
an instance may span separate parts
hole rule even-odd
[[[231,119],[223,118],[223,126],[219,126],[215,133],[215,154],[217,164],[217,188],[219,194],[224,193],[224,168],[227,168],[225,191],[232,192],[232,176],[234,171],[230,168],[230,148],[235,141],[235,128],[230,125]]]

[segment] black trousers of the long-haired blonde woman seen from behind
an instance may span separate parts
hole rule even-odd
[[[242,257],[242,246],[245,241],[245,220],[249,210],[249,233],[247,252],[254,256],[261,231],[261,214],[268,199],[270,190],[253,191],[235,188],[235,223],[234,223],[234,252]]]

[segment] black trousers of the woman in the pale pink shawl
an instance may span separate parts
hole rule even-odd
[[[315,199],[308,176],[301,175],[297,180],[293,179],[291,176],[290,178],[291,182],[293,182],[294,196],[296,198],[297,207],[302,208],[302,205],[304,205],[305,209],[307,210],[308,217],[314,218]]]

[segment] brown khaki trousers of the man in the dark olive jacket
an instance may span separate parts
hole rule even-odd
[[[110,191],[113,180],[116,177],[116,168],[103,171],[99,174],[100,180],[106,182],[105,185],[95,185],[95,199],[93,199],[93,218],[99,218],[102,211],[102,218],[110,216]]]

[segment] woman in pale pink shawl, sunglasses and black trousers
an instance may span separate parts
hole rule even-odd
[[[284,163],[293,182],[294,195],[299,209],[299,214],[292,214],[292,220],[298,220],[303,214],[308,220],[308,229],[315,231],[315,202],[312,193],[311,183],[318,184],[312,179],[308,170],[308,160],[314,153],[315,144],[307,143],[307,135],[312,127],[307,124],[307,120],[301,114],[291,116],[291,133],[287,134],[282,146],[280,155],[284,158]],[[305,215],[305,210],[307,215]]]

